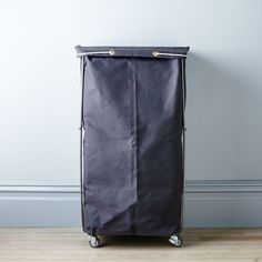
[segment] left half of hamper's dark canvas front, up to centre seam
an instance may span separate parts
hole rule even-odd
[[[131,68],[129,59],[85,59],[84,213],[91,234],[130,230],[130,209],[137,201],[130,150]]]

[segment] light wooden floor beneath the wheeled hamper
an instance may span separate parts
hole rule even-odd
[[[262,229],[190,229],[180,249],[168,238],[114,236],[91,249],[80,229],[0,228],[0,261],[262,262]]]

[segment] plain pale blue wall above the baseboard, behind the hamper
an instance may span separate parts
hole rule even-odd
[[[79,183],[75,44],[190,46],[187,179],[261,180],[261,10],[260,0],[0,1],[0,187]]]

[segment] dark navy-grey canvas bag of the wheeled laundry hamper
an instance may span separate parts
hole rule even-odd
[[[79,53],[108,49],[77,47]],[[83,58],[83,218],[91,235],[180,230],[181,58],[154,58],[154,49],[114,48],[114,56]]]

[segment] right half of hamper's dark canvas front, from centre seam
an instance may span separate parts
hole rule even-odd
[[[137,61],[137,230],[141,234],[169,235],[179,230],[182,192],[180,83],[178,59]]]

